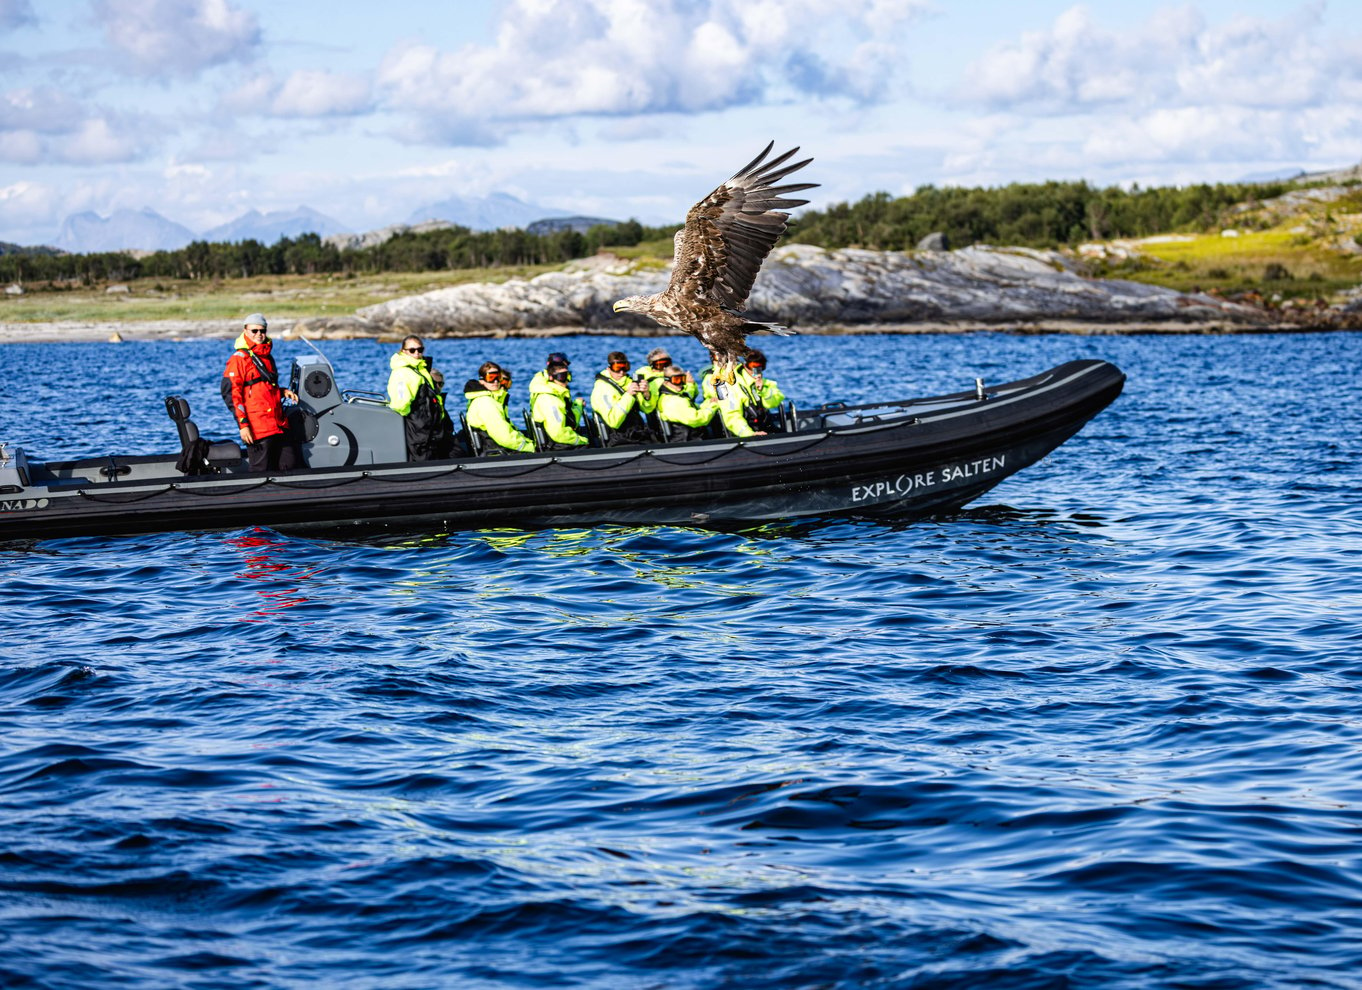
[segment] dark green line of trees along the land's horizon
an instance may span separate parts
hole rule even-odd
[[[906,251],[928,234],[941,233],[956,248],[970,244],[1060,248],[1088,240],[1214,229],[1231,207],[1271,199],[1290,188],[1291,182],[1130,189],[1056,181],[998,188],[926,185],[911,196],[877,192],[857,203],[806,210],[798,215],[787,240],[823,248]],[[659,251],[667,251],[678,227],[651,227],[632,219],[598,225],[584,233],[557,230],[549,234],[452,226],[405,231],[365,248],[340,249],[317,234],[301,234],[282,237],[272,245],[255,240],[193,241],[177,251],[140,256],[11,249],[0,252],[0,282],[94,285],[136,278],[232,279],[553,266],[602,249],[632,248],[650,241],[658,242]]]

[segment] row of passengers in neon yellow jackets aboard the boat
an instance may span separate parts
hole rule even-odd
[[[607,354],[587,410],[586,402],[572,395],[572,362],[554,351],[530,380],[530,436],[511,422],[511,372],[494,361],[484,362],[478,376],[464,384],[466,429],[455,430],[444,376],[425,355],[421,338],[406,338],[390,365],[388,404],[405,418],[411,460],[695,440],[714,436],[715,421],[722,425],[718,434],[765,436],[780,429],[785,403],[780,387],[765,377],[767,358],[759,350],[746,353],[731,385],[716,381],[712,369],[706,369],[697,385],[665,347],[655,347],[647,368],[633,377],[624,353]]]

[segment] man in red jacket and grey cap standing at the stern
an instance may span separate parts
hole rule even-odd
[[[237,338],[237,349],[227,358],[223,374],[230,385],[232,414],[241,428],[251,470],[291,471],[298,466],[298,452],[287,437],[283,399],[297,402],[298,396],[289,388],[279,388],[279,370],[270,354],[272,342],[267,328],[260,313],[247,317],[245,330]]]

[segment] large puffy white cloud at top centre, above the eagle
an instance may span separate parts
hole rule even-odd
[[[571,116],[877,101],[923,0],[512,0],[490,45],[394,48],[377,72],[409,136],[485,143]]]

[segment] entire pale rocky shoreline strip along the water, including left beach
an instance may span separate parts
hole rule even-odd
[[[537,278],[471,283],[366,306],[354,316],[275,319],[287,339],[549,338],[568,334],[666,336],[616,316],[624,296],[658,291],[669,271],[599,255]],[[1244,334],[1362,327],[1362,306],[1276,308],[1083,274],[1073,257],[1026,248],[941,252],[772,252],[750,297],[750,315],[799,334]],[[0,323],[0,343],[46,340],[233,339],[232,320]]]

